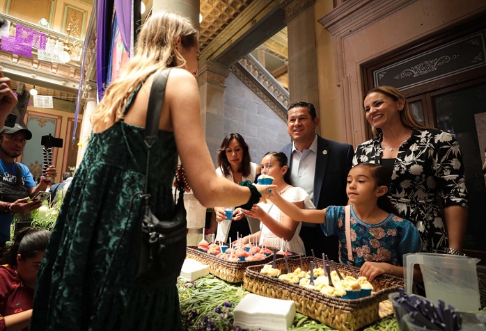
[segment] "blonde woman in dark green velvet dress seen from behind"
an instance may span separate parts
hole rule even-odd
[[[159,220],[175,216],[178,155],[195,197],[207,207],[254,203],[261,197],[258,190],[270,188],[239,186],[214,172],[199,115],[198,55],[198,33],[187,19],[159,13],[143,24],[134,57],[92,117],[93,135],[40,267],[31,330],[181,330],[175,283],[185,236],[178,250],[166,252],[175,265],[166,266],[159,278],[139,277],[137,193],[146,177]],[[167,80],[146,170],[146,115],[157,75]]]

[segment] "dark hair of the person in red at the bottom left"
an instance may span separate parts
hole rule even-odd
[[[15,234],[13,244],[0,259],[0,264],[17,267],[17,254],[21,255],[22,259],[29,259],[38,252],[44,252],[50,237],[51,232],[44,229],[34,229],[33,227],[20,229]]]

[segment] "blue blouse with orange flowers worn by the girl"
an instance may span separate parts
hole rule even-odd
[[[351,206],[351,249],[354,265],[361,267],[365,261],[403,265],[403,255],[420,252],[420,234],[409,220],[390,213],[378,224],[360,220]],[[326,222],[321,225],[326,236],[336,234],[339,239],[339,257],[347,261],[345,210],[343,206],[329,206]]]

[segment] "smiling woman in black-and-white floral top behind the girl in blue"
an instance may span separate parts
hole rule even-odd
[[[381,163],[389,169],[390,199],[417,227],[423,251],[461,254],[467,189],[455,138],[419,124],[405,97],[391,86],[370,90],[364,109],[375,138],[356,148],[353,165]]]

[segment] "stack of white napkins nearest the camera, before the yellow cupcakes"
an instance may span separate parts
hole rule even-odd
[[[233,312],[233,325],[245,329],[288,330],[295,317],[295,302],[246,294]]]

